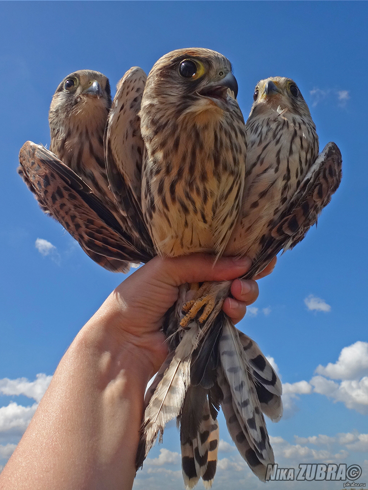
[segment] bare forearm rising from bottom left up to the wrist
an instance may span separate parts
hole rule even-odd
[[[151,375],[142,355],[92,318],[56,369],[0,488],[131,489]]]

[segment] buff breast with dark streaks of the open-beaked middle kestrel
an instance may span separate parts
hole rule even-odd
[[[146,145],[143,210],[162,255],[216,253],[227,239],[221,226],[234,225],[246,149],[234,149],[220,129],[181,128],[177,139]]]

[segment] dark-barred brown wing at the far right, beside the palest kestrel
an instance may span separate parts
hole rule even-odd
[[[291,249],[303,240],[338,189],[341,178],[340,149],[335,143],[328,143],[316,158],[286,209],[270,223],[270,231],[262,239],[261,251],[244,278],[254,277],[280,250]]]

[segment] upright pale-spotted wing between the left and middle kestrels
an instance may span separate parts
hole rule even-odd
[[[133,67],[117,85],[105,134],[105,161],[111,192],[126,215],[131,235],[151,250],[141,209],[144,143],[138,116],[146,78],[141,68]]]

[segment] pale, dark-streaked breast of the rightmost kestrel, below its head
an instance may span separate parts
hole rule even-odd
[[[242,209],[226,249],[255,258],[268,226],[299,188],[318,153],[313,128],[278,117],[247,124]]]

